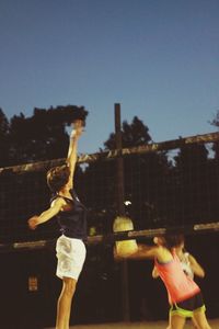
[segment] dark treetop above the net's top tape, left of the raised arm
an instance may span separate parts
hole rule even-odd
[[[76,118],[85,123],[83,106],[34,109],[31,117],[14,115],[10,123],[0,112],[2,166],[62,158],[68,149],[67,126]],[[5,152],[5,149],[8,152]]]

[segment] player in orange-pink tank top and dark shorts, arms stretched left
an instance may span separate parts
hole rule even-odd
[[[181,235],[180,235],[181,236]],[[169,329],[183,329],[186,318],[194,318],[198,329],[210,329],[206,318],[206,307],[199,286],[185,274],[175,252],[180,236],[166,234],[155,238],[155,246],[138,245],[138,250],[130,254],[118,254],[116,260],[153,259],[159,276],[163,281],[170,303]]]

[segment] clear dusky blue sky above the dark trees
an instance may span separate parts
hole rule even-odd
[[[216,131],[218,0],[0,0],[0,107],[90,112],[93,152],[137,115],[154,141]]]

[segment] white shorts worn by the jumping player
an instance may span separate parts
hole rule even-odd
[[[85,260],[85,246],[80,239],[60,236],[56,242],[56,257],[58,259],[56,275],[60,279],[79,279]]]

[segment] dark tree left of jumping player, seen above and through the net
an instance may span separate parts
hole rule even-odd
[[[34,109],[31,117],[23,113],[14,115],[10,123],[0,111],[0,159],[1,167],[38,160],[65,158],[68,149],[67,126],[77,118],[85,122],[88,111],[74,105],[56,109]],[[0,224],[1,239],[22,240],[30,230],[26,218],[39,213],[49,201],[46,174],[42,171],[14,173],[5,169],[0,174]],[[13,206],[10,202],[13,201]],[[5,227],[4,227],[5,225]],[[33,238],[47,238],[57,234],[57,227],[37,230]],[[13,229],[12,227],[16,227]]]

